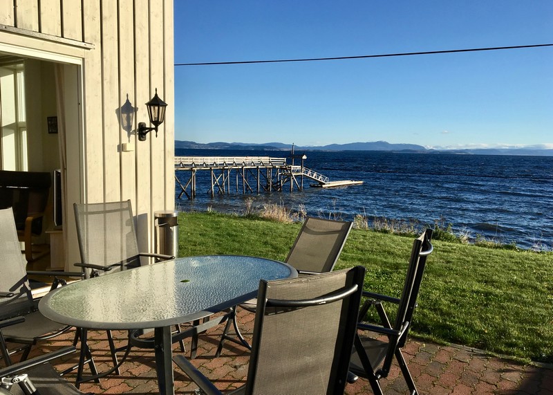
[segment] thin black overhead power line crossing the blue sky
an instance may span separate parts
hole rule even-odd
[[[360,55],[360,56],[339,56],[339,57],[312,57],[308,59],[273,59],[273,60],[243,60],[238,62],[203,62],[203,63],[176,63],[175,66],[213,66],[217,64],[254,64],[254,63],[284,63],[284,62],[319,62],[321,60],[344,60],[344,59],[368,59],[370,57],[393,57],[393,56],[413,56],[413,55],[437,55],[439,53],[460,53],[460,52],[478,52],[484,50],[504,50],[520,48],[537,48],[542,46],[553,46],[553,44],[536,45],[518,45],[518,46],[496,46],[492,48],[470,48],[470,49],[450,49],[450,50],[429,50],[425,52],[406,52],[406,53],[384,53],[380,55]]]

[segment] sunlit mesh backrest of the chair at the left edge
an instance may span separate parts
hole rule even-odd
[[[32,309],[26,264],[17,239],[13,211],[11,208],[0,210],[0,319]]]

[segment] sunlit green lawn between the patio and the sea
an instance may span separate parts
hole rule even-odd
[[[181,257],[285,259],[299,223],[180,213]],[[400,296],[412,237],[353,229],[336,268],[366,267],[365,289]],[[411,334],[553,362],[553,252],[433,241]]]

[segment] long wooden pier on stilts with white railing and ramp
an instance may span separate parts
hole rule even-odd
[[[211,174],[211,187],[207,193],[212,197],[215,194],[229,194],[232,184],[236,184],[236,192],[243,194],[260,193],[262,191],[282,191],[286,185],[290,187],[290,192],[294,186],[298,190],[303,190],[303,179],[317,181],[312,186],[327,185],[344,186],[353,183],[362,183],[362,181],[330,181],[328,177],[312,171],[302,165],[290,165],[286,158],[270,158],[269,156],[176,156],[175,171],[190,172],[186,183],[181,183],[175,174],[176,181],[180,185],[181,192],[178,199],[185,194],[188,199],[194,199],[197,194],[196,172],[209,171]],[[234,175],[233,175],[234,173]]]

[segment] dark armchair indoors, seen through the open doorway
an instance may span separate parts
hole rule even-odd
[[[0,208],[13,209],[17,230],[24,230],[28,214],[46,210],[51,182],[48,172],[0,170]],[[32,221],[31,231],[41,234],[41,217]]]

